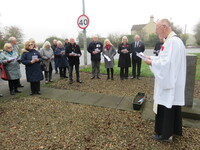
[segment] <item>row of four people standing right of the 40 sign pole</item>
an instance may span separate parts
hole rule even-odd
[[[120,79],[128,79],[129,67],[131,67],[131,57],[132,54],[132,77],[134,79],[140,79],[141,72],[141,58],[136,56],[136,52],[144,52],[145,45],[142,41],[140,41],[140,36],[135,35],[134,42],[129,44],[128,38],[126,36],[122,37],[122,42],[119,44],[118,53],[118,67],[120,67]],[[116,50],[109,39],[104,41],[102,44],[98,41],[98,37],[93,37],[93,42],[91,42],[88,46],[88,52],[91,53],[91,62],[92,62],[92,77],[94,79],[95,76],[97,79],[100,79],[100,60],[101,60],[101,52],[104,57],[105,68],[107,69],[107,79],[113,78],[113,68],[114,68],[114,56],[116,55]]]

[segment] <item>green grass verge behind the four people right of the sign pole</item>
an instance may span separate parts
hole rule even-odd
[[[89,66],[87,68],[81,69],[80,71],[82,71],[82,72],[92,72],[92,67]],[[101,72],[101,74],[107,74],[104,63],[101,63],[100,72]],[[115,60],[114,74],[115,75],[120,74],[120,68],[118,67],[118,60]],[[129,68],[129,76],[131,76],[131,75],[132,75],[132,67]],[[142,62],[142,66],[141,66],[141,76],[142,77],[153,77],[153,74],[150,71],[149,66],[146,65],[144,62]]]

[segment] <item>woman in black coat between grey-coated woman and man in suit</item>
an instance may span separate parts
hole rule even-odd
[[[118,53],[118,67],[120,67],[120,78],[121,80],[128,79],[128,68],[131,67],[131,50],[130,45],[128,44],[128,38],[126,36],[122,38],[122,43],[118,47]]]

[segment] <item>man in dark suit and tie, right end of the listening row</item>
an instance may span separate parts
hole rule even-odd
[[[132,77],[131,79],[136,78],[136,67],[137,67],[137,79],[140,79],[140,70],[142,60],[136,55],[136,52],[144,52],[145,46],[142,41],[140,41],[140,36],[135,35],[134,42],[131,43],[131,51],[132,51]]]

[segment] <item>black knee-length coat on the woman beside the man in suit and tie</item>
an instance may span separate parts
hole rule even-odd
[[[127,49],[128,53],[122,53],[121,50]],[[119,60],[118,60],[118,67],[131,67],[131,58],[130,58],[130,45],[127,43],[127,45],[120,44],[118,47],[118,53],[119,53]]]

